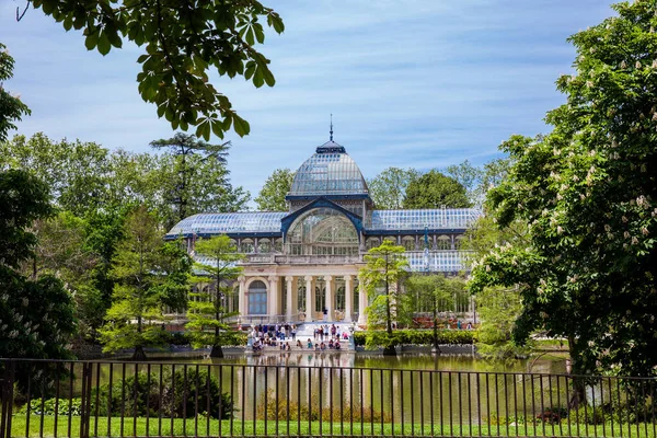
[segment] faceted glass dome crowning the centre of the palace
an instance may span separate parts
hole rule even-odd
[[[360,169],[345,148],[328,141],[306,160],[295,174],[290,196],[368,194]]]

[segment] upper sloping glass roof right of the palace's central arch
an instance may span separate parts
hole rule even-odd
[[[469,228],[482,216],[476,208],[436,208],[423,210],[374,210],[368,230],[418,230]]]

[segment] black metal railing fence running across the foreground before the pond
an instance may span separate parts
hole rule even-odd
[[[655,379],[0,359],[5,437],[655,437]]]

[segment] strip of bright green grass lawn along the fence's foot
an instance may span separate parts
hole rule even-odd
[[[26,417],[25,416],[16,416],[12,418],[12,437],[54,437],[55,435],[55,417],[45,416],[43,417],[43,435],[41,434],[42,424],[41,417],[31,416],[30,418],[30,430],[26,434]],[[136,427],[135,427],[136,425]],[[70,426],[70,436],[79,437],[80,436],[80,417],[73,416],[71,417],[71,422],[69,425],[68,417],[59,417],[57,422],[57,436],[58,437],[68,437],[69,436],[69,426]],[[173,426],[173,427],[172,427]],[[209,426],[209,428],[208,428]],[[333,426],[333,428],[332,428]],[[562,424],[560,425],[538,425],[531,426],[528,425],[527,429],[525,425],[521,426],[470,426],[470,425],[446,425],[438,426],[434,425],[434,430],[431,431],[431,425],[425,423],[424,429],[420,425],[402,425],[400,424],[364,424],[362,426],[359,424],[354,424],[353,428],[349,422],[341,424],[334,423],[333,425],[326,422],[301,422],[300,424],[295,422],[290,422],[289,424],[286,422],[279,422],[278,428],[276,425],[276,420],[253,420],[244,422],[242,424],[241,420],[234,420],[232,424],[230,420],[216,420],[210,419],[209,422],[204,418],[198,418],[198,422],[195,423],[194,418],[183,420],[181,418],[176,418],[173,420],[173,425],[170,418],[163,418],[162,423],[159,424],[158,418],[150,418],[148,420],[147,427],[147,418],[139,417],[135,420],[135,418],[124,418],[123,429],[122,429],[122,420],[119,417],[113,418],[99,418],[97,423],[95,418],[92,418],[90,426],[90,435],[95,437],[146,437],[146,436],[203,436],[203,437],[218,437],[221,436],[319,436],[319,435],[333,435],[333,436],[450,436],[450,437],[460,437],[460,436],[476,436],[476,437],[497,437],[497,436],[587,436],[587,437],[655,437],[655,425],[652,424],[641,424],[641,425],[624,425],[623,430],[618,424],[611,427],[610,424],[604,426],[597,425],[568,425]]]

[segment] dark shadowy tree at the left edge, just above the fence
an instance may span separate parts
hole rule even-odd
[[[37,240],[28,227],[51,212],[44,183],[22,171],[0,172],[0,357],[70,357],[70,293],[51,275],[28,280],[18,270],[34,256]]]

